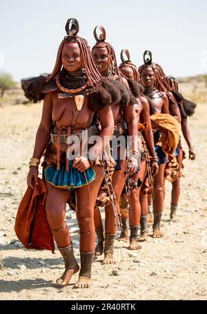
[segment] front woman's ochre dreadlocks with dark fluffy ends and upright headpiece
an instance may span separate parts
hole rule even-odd
[[[61,52],[63,50],[63,45],[70,42],[78,43],[81,51],[82,67],[84,75],[86,76],[86,83],[84,83],[84,85],[91,90],[89,93],[91,100],[90,109],[97,112],[106,105],[119,103],[120,101],[122,101],[124,105],[128,105],[131,101],[130,97],[123,96],[124,94],[129,94],[127,88],[115,83],[114,80],[103,78],[101,74],[99,74],[92,59],[88,42],[77,36],[77,33],[79,32],[79,23],[77,19],[68,19],[65,29],[67,36],[64,37],[59,45],[57,59],[52,73],[21,80],[21,87],[25,92],[25,96],[30,101],[37,103],[37,101],[43,99],[44,93],[59,90],[56,81],[57,76],[66,72],[62,67]],[[113,68],[115,69],[116,66]]]

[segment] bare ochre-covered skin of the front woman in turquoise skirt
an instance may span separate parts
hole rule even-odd
[[[66,43],[66,45],[63,45],[61,61],[64,69],[68,71],[70,76],[76,78],[81,75],[83,71],[83,61],[81,50],[79,49],[79,45],[77,43]],[[89,61],[86,60],[86,62]],[[67,133],[67,128],[71,126],[75,111],[76,105],[73,97],[59,98],[58,91],[47,92],[45,94],[41,122],[37,130],[34,144],[34,158],[40,159],[41,156],[43,156],[43,151],[45,151],[47,145],[50,123],[53,122],[55,125],[53,133],[57,134],[59,129],[61,129],[62,134]],[[101,132],[99,132],[99,136],[102,140],[104,136],[108,136],[108,138],[110,138],[114,129],[113,115],[110,106],[103,107],[103,109],[100,109],[97,113],[101,125]],[[81,112],[79,112],[74,127],[71,128],[71,134],[79,133],[81,129],[88,127],[92,122],[93,114],[94,112],[90,109],[90,96],[85,96]],[[92,147],[92,151],[96,154],[96,156],[102,151],[102,149],[103,142],[97,143]],[[88,158],[80,156],[73,160],[72,167],[76,168],[80,172],[83,172],[90,167],[90,162]],[[94,251],[95,227],[93,213],[97,193],[103,180],[103,169],[98,165],[93,166],[93,169],[96,173],[95,180],[90,182],[88,185],[75,189],[77,220],[80,230],[80,251],[85,253]],[[30,187],[37,184],[37,176],[37,167],[30,167],[30,171],[28,173],[28,185],[30,185]],[[46,182],[46,185],[48,189],[48,196],[46,198],[46,213],[48,222],[55,241],[57,242],[57,246],[60,248],[66,248],[71,244],[70,233],[65,224],[66,202],[70,197],[70,191],[68,189],[54,187],[48,182]],[[82,200],[85,200],[85,202]],[[83,265],[81,268],[83,269]],[[75,265],[73,269],[66,269],[57,283],[60,286],[66,286],[66,284],[70,282],[71,276],[77,271],[79,271],[79,267],[77,265]],[[75,288],[88,287],[90,284],[90,277],[80,275],[77,284],[75,284]]]

